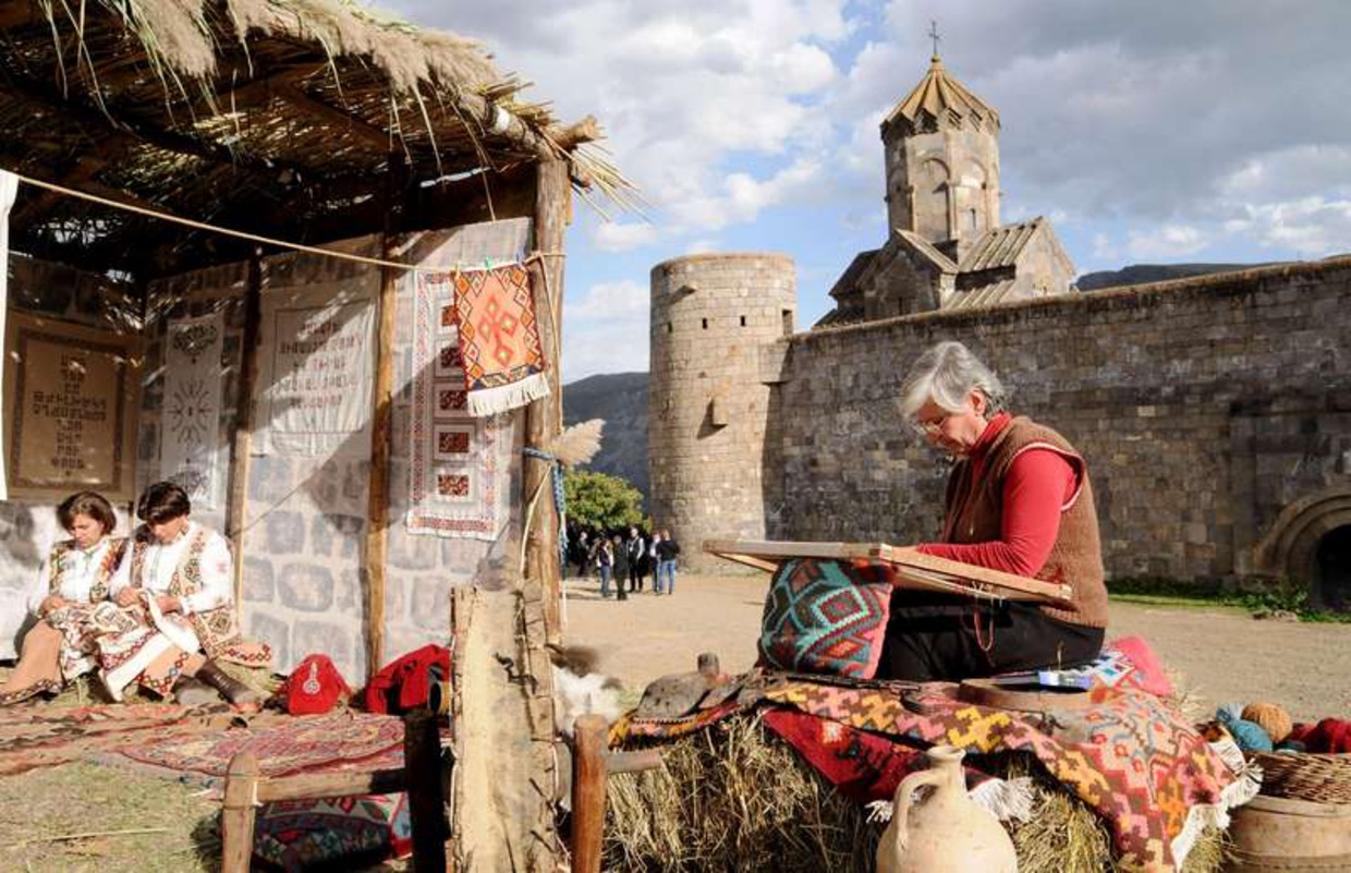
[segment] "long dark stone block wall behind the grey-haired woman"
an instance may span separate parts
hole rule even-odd
[[[1260,553],[1288,507],[1351,495],[1347,311],[1342,258],[798,334],[770,535],[938,534],[946,465],[894,400],[920,351],[958,339],[1088,459],[1111,574],[1286,574]]]

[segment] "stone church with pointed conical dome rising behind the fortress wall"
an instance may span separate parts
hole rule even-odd
[[[889,238],[831,289],[817,327],[1077,293],[1051,223],[1000,224],[1000,114],[935,54],[886,115]]]

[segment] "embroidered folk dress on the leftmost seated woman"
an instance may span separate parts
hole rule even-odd
[[[97,668],[95,614],[107,604],[108,585],[126,551],[123,537],[104,537],[89,549],[73,539],[51,547],[41,582],[28,596],[28,611],[39,619],[23,638],[14,674],[0,689],[0,704],[61,691],[65,682]],[[65,605],[43,612],[49,596]]]

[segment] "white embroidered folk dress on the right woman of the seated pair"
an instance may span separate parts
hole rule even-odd
[[[172,543],[138,531],[108,593],[132,588],[141,596],[119,612],[116,632],[99,641],[103,678],[115,700],[132,682],[168,696],[180,676],[196,673],[201,654],[250,666],[272,659],[267,646],[239,637],[232,566],[224,537],[196,522]],[[181,611],[161,612],[159,595],[177,597]]]

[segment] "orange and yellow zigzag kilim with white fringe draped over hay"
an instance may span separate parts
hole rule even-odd
[[[969,754],[1028,751],[1104,818],[1127,870],[1178,869],[1201,830],[1227,824],[1227,811],[1255,791],[1163,701],[1140,692],[1056,712],[1050,732],[1012,712],[947,697],[920,699],[924,714],[893,695],[824,684],[771,688],[765,697],[859,730],[948,743]]]

